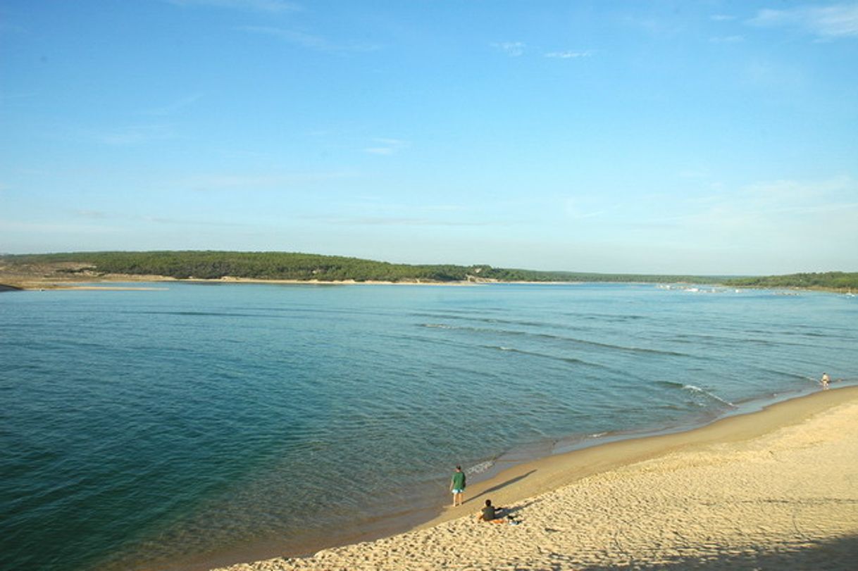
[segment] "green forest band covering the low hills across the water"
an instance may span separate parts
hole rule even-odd
[[[2,255],[9,267],[75,264],[65,273],[105,275],[160,275],[176,279],[299,279],[320,281],[598,281],[722,284],[737,287],[801,287],[858,290],[858,273],[793,273],[780,276],[730,278],[726,276],[639,273],[543,272],[492,267],[395,264],[339,255],[296,252],[149,251],[72,252],[65,254]]]

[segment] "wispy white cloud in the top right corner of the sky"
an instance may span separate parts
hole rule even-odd
[[[798,27],[822,39],[855,37],[858,36],[858,3],[762,9],[747,23],[759,27]]]

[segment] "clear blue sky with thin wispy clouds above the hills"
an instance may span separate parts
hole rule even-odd
[[[858,3],[3,0],[0,251],[858,271]]]

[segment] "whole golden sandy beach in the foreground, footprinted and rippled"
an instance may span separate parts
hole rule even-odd
[[[412,532],[228,569],[856,569],[858,388],[537,460],[467,491]],[[487,496],[520,525],[475,521]]]

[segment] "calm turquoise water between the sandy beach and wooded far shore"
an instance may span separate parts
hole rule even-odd
[[[0,568],[273,555],[448,502],[456,463],[858,382],[837,294],[157,286],[0,295]]]

